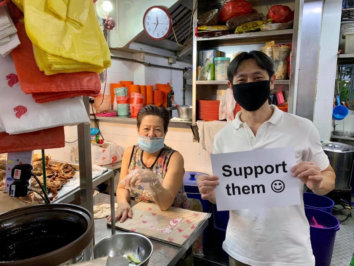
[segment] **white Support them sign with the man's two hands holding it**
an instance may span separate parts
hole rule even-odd
[[[213,176],[200,176],[202,199],[218,210],[275,207],[300,203],[299,179],[321,194],[324,177],[314,162],[296,164],[291,147],[213,154]],[[294,178],[297,177],[297,178]]]

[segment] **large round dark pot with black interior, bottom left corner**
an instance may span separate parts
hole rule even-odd
[[[56,266],[92,259],[93,216],[72,204],[40,204],[0,215],[0,266]]]

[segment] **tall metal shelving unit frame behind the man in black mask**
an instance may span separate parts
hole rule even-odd
[[[221,7],[221,0],[213,1],[198,1],[197,10],[194,13],[193,28],[197,26],[198,10],[200,12],[206,12],[213,8]],[[196,0],[194,0],[194,5]],[[285,29],[278,31],[268,31],[268,32],[252,32],[252,33],[242,33],[242,34],[227,34],[219,37],[205,38],[196,37],[193,35],[193,119],[192,126],[196,126],[196,120],[198,120],[197,115],[197,100],[201,99],[216,99],[217,90],[223,90],[226,88],[227,81],[197,81],[196,80],[196,66],[198,65],[198,54],[199,50],[216,49],[220,51],[225,51],[227,57],[230,54],[238,51],[249,51],[253,49],[259,49],[263,46],[266,41],[274,40],[276,43],[292,43],[292,56],[291,56],[291,68],[290,68],[290,79],[289,80],[277,80],[275,82],[274,92],[284,91],[286,98],[288,100],[288,112],[296,113],[297,105],[297,83],[299,75],[299,50],[300,39],[299,32],[301,32],[301,21],[304,0],[250,0],[253,8],[256,10],[268,10],[269,6],[275,4],[290,4],[293,5],[291,8],[295,7],[294,13],[294,25],[293,29]],[[258,9],[258,7],[261,7]],[[263,11],[259,11],[263,12]],[[264,13],[264,12],[263,12]],[[247,46],[249,48],[247,48]],[[233,51],[233,52],[232,52]]]

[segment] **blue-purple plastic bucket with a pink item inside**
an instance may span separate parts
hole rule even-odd
[[[339,230],[339,221],[332,214],[318,209],[305,208],[305,215],[310,225],[314,224],[312,221],[312,217],[314,217],[319,225],[325,227],[310,226],[310,239],[316,265],[330,266],[334,241]]]

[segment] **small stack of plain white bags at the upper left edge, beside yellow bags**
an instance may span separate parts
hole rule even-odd
[[[5,6],[0,6],[0,54],[2,56],[5,57],[20,44],[16,32]]]

